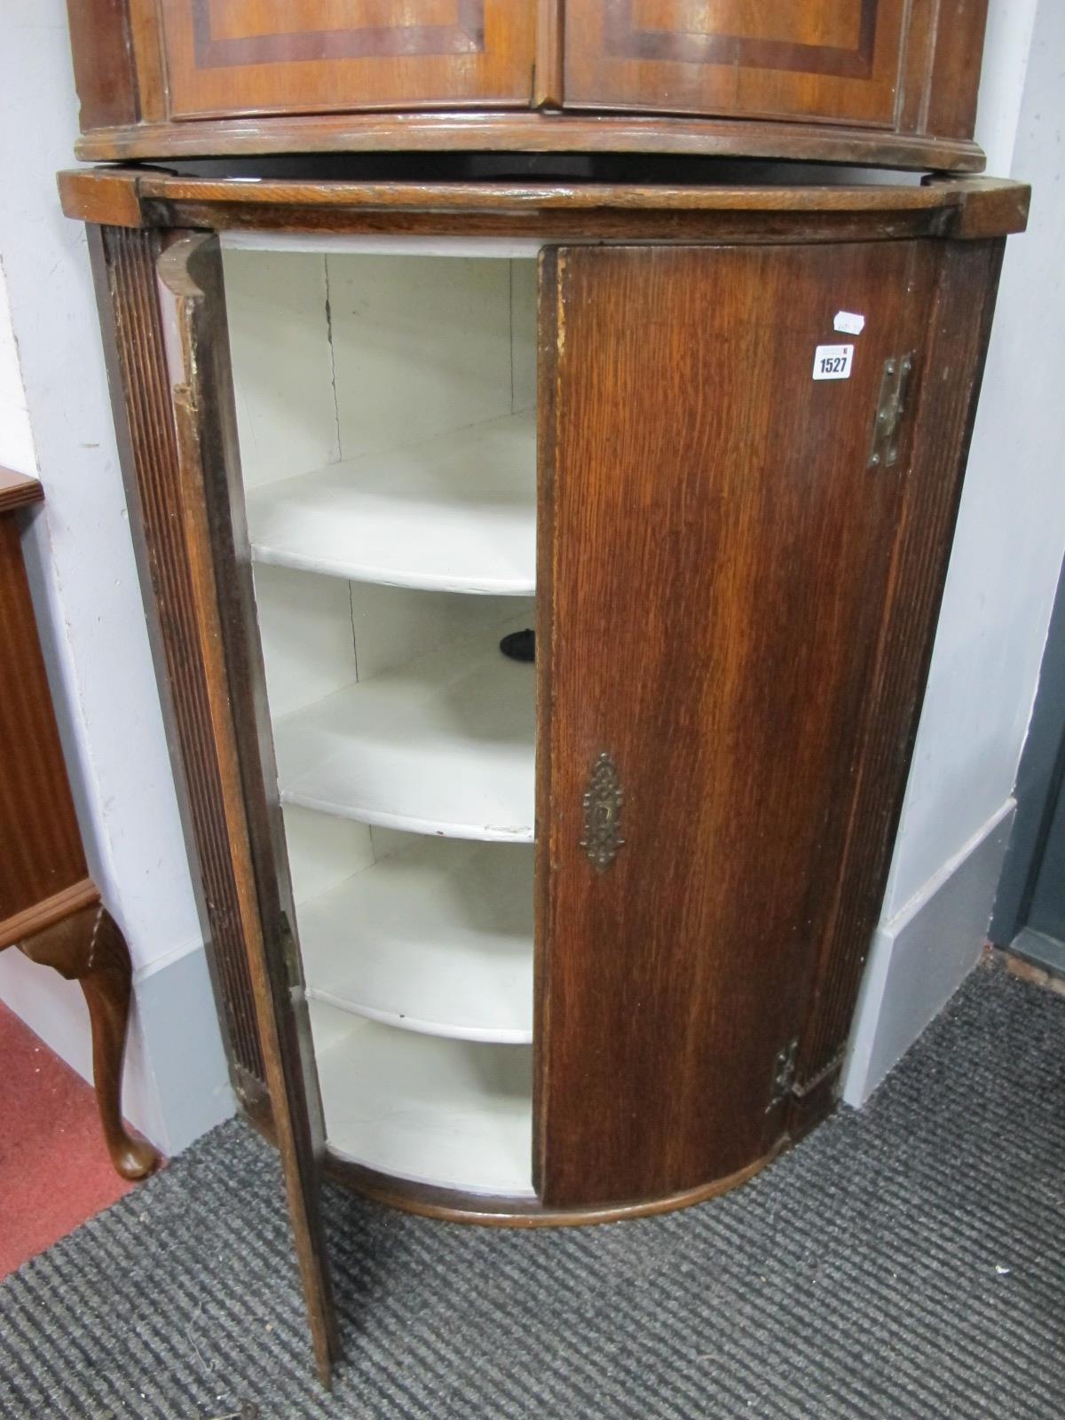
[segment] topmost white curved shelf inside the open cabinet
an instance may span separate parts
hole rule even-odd
[[[248,493],[258,562],[423,591],[535,591],[535,413]]]

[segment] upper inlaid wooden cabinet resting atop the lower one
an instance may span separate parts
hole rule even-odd
[[[978,172],[987,0],[70,0],[84,159],[670,152]]]

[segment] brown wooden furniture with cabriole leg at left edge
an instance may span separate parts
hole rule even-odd
[[[129,949],[85,865],[37,638],[18,514],[40,483],[0,469],[0,951],[18,950],[85,993],[104,1139],[125,1179],[159,1162],[122,1122]]]

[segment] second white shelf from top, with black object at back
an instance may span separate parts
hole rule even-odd
[[[518,618],[346,686],[275,726],[283,804],[447,838],[532,842],[534,667]]]

